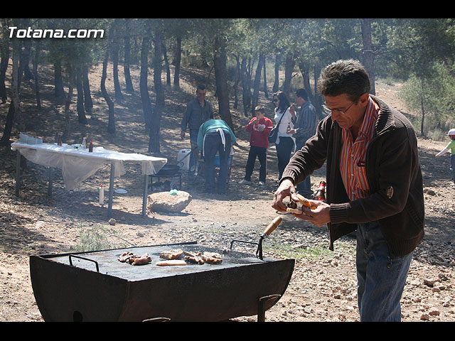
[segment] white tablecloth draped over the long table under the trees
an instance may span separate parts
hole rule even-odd
[[[80,145],[76,145],[80,146]],[[88,149],[56,144],[11,144],[11,149],[21,153],[27,160],[41,166],[55,167],[62,170],[63,181],[68,190],[90,177],[103,165],[113,163],[114,176],[125,173],[124,163],[141,163],[142,174],[152,175],[160,171],[167,163],[166,158],[156,158],[137,153],[120,153],[103,147]]]

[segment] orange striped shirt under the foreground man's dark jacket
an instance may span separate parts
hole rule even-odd
[[[365,158],[368,144],[373,139],[375,124],[380,109],[378,104],[370,101],[365,110],[362,125],[358,136],[353,141],[353,136],[348,129],[343,129],[341,141],[340,172],[344,187],[350,200],[357,200],[370,195],[370,186],[366,175]]]

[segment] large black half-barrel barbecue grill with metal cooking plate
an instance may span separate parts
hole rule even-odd
[[[262,242],[262,237],[261,237]],[[203,247],[196,242],[30,257],[31,282],[45,321],[223,321],[264,313],[279,301],[294,259]],[[217,252],[221,264],[156,266],[161,251]],[[151,256],[133,266],[124,251]],[[258,250],[259,251],[259,250]],[[162,259],[161,259],[162,260]]]

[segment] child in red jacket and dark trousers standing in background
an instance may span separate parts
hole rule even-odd
[[[251,183],[251,175],[255,168],[256,158],[259,159],[259,185],[265,184],[267,170],[267,148],[269,147],[269,132],[273,128],[272,121],[265,117],[265,110],[262,106],[255,107],[256,116],[253,117],[245,130],[250,135],[250,152],[248,153],[247,166],[245,167],[245,178],[240,183]]]

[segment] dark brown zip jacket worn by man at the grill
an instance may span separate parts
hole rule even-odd
[[[331,115],[319,122],[316,134],[297,151],[282,180],[294,185],[326,164],[326,195],[331,205],[328,223],[333,242],[357,229],[357,223],[378,221],[390,256],[405,256],[424,237],[424,196],[417,138],[410,121],[396,109],[370,95],[380,107],[373,139],[366,152],[370,195],[350,201],[343,185],[339,162],[341,127]]]

